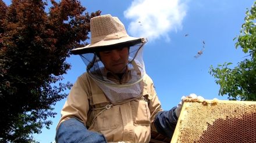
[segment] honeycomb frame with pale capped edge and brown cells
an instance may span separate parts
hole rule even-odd
[[[186,98],[171,143],[256,142],[256,102]]]

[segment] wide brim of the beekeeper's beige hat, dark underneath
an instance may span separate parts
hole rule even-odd
[[[120,39],[102,40],[96,43],[89,44],[84,47],[78,47],[71,50],[72,54],[86,54],[95,53],[99,51],[113,50],[125,46],[133,46],[138,43],[143,43],[145,38],[135,38],[131,36],[125,36]]]

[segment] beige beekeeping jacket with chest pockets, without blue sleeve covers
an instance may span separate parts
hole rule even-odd
[[[152,79],[145,75],[143,82],[143,97],[111,105],[94,80],[84,73],[67,97],[59,124],[77,118],[88,130],[104,134],[108,142],[149,142],[151,129],[155,130],[155,115],[162,108]]]

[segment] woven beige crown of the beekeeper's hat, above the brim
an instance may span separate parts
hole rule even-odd
[[[93,17],[90,22],[91,43],[127,36],[125,25],[111,14]]]

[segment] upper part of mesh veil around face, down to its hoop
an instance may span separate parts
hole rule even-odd
[[[144,62],[143,62],[143,46],[144,43],[138,43],[129,47],[129,60],[127,63],[127,69],[131,78],[129,80],[122,79],[108,79],[106,77],[106,71],[104,64],[101,62],[97,53],[80,54],[82,60],[87,65],[88,74],[99,82],[115,86],[126,86],[136,82],[139,82],[145,74]],[[119,80],[122,80],[120,82]],[[118,83],[118,84],[117,84]],[[120,84],[121,83],[121,84]]]

